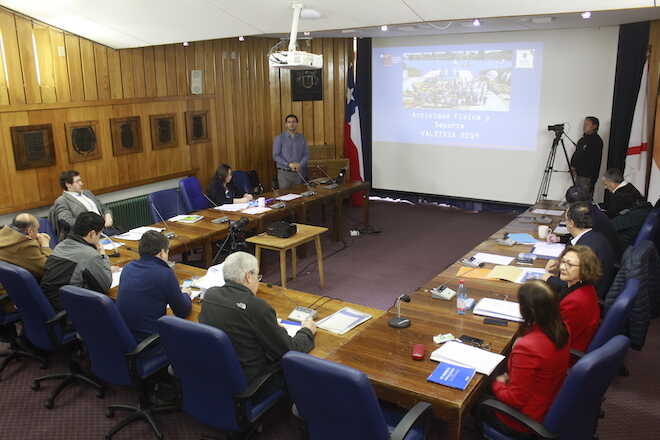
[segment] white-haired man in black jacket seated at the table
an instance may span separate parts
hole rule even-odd
[[[253,255],[246,252],[229,255],[222,273],[225,285],[206,291],[199,322],[227,333],[248,384],[271,371],[287,351],[306,353],[314,348],[314,321],[303,322],[291,337],[278,324],[270,304],[256,296],[261,276]],[[283,388],[283,376],[274,376],[269,389],[272,387]]]

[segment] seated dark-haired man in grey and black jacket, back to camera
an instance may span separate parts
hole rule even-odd
[[[61,241],[46,261],[41,289],[55,311],[63,309],[60,287],[67,284],[107,293],[112,270],[99,244],[105,221],[95,212],[81,213],[68,237]]]

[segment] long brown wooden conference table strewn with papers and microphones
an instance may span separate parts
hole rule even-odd
[[[305,203],[306,201],[303,200],[302,202]],[[534,222],[535,215],[531,213],[534,208],[557,209],[557,202],[542,202],[529,208],[484,242],[467,252],[464,257],[470,257],[476,252],[490,252],[506,256],[516,256],[521,252],[529,252],[529,245],[509,247],[497,244],[495,239],[502,238],[505,233],[516,232],[527,232],[536,236],[538,225]],[[203,212],[212,216],[217,211],[205,210]],[[559,220],[560,217],[553,217],[553,224],[558,223]],[[168,222],[168,229],[169,224]],[[226,226],[212,225],[224,227],[226,233]],[[180,228],[182,236],[186,237],[192,235],[188,228],[194,230],[192,228],[199,228],[200,226],[199,223],[195,223],[193,225],[173,225],[172,229],[174,227]],[[220,234],[220,232],[214,232],[214,234]],[[122,248],[122,252],[121,262],[138,258],[137,254],[131,249]],[[536,267],[542,267],[543,265],[544,260],[537,260],[535,263]],[[493,266],[492,264],[486,264],[485,267]],[[448,436],[446,438],[459,439],[465,414],[481,396],[482,391],[487,390],[490,381],[488,377],[476,374],[464,391],[428,382],[427,377],[437,366],[436,362],[428,358],[429,353],[438,347],[433,342],[433,336],[452,333],[458,337],[465,334],[482,339],[493,352],[507,354],[518,331],[518,324],[514,322],[509,322],[506,327],[486,325],[483,323],[483,317],[481,316],[469,312],[465,315],[458,315],[455,300],[443,301],[431,298],[429,289],[432,287],[446,284],[453,289],[457,288],[458,281],[461,279],[457,276],[457,271],[461,267],[461,264],[457,261],[442,270],[424,286],[410,293],[411,302],[402,303],[401,315],[410,318],[412,325],[401,330],[388,326],[389,319],[395,315],[395,312],[391,309],[383,312],[265,283],[260,285],[258,296],[268,301],[280,318],[285,318],[297,305],[309,306],[315,301],[317,301],[315,306],[318,306],[319,319],[344,306],[350,306],[371,314],[373,316],[371,320],[345,335],[339,336],[319,330],[316,337],[316,348],[312,351],[312,354],[363,371],[368,375],[379,398],[383,400],[396,403],[404,408],[410,408],[419,401],[431,403],[435,415],[448,425]],[[183,281],[194,276],[202,276],[206,271],[184,264],[177,264],[175,272],[177,278]],[[474,298],[476,302],[485,297],[517,300],[518,284],[500,280],[474,279],[467,276],[463,279],[469,289],[469,296]],[[116,292],[112,293],[112,295],[115,294]],[[200,309],[199,302],[195,302],[189,319],[196,321]],[[418,343],[426,346],[427,355],[422,361],[414,361],[410,355],[412,345]]]

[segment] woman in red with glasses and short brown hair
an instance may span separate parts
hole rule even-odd
[[[559,292],[559,311],[571,334],[571,349],[584,352],[600,324],[595,284],[600,261],[587,246],[567,246],[558,260],[548,262],[546,278],[559,275],[567,285]]]

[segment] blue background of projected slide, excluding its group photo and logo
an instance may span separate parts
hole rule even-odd
[[[516,49],[534,51],[533,68],[515,67]],[[403,58],[404,53],[465,50],[512,50],[514,59],[506,63],[471,60],[465,66],[465,63],[461,65],[461,61]],[[374,48],[372,60],[374,141],[525,151],[536,148],[543,71],[542,43]],[[470,70],[475,76],[478,76],[482,69],[511,67],[511,99],[508,111],[405,108],[402,89],[403,71],[406,66],[422,72],[438,69],[451,71],[455,67]]]

